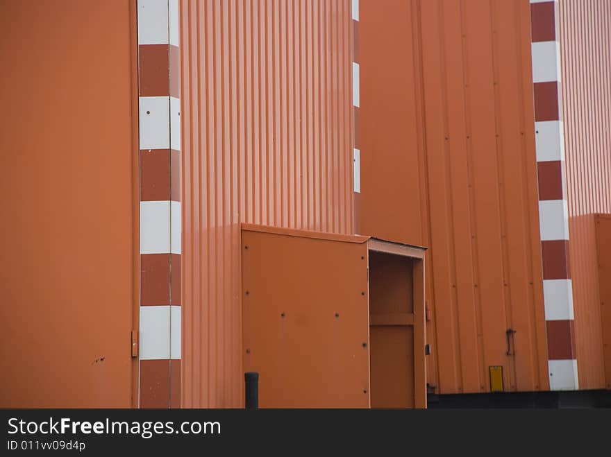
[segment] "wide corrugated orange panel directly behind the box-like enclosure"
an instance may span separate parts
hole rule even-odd
[[[349,0],[181,2],[183,406],[240,406],[239,223],[353,230]]]

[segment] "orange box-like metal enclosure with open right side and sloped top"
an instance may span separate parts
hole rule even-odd
[[[260,406],[426,408],[423,266],[423,248],[243,224],[242,355]]]

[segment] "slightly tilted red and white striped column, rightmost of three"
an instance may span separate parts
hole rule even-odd
[[[560,98],[558,0],[530,0],[539,229],[551,390],[579,388]]]

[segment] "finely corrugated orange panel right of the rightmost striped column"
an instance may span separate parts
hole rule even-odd
[[[579,386],[605,386],[594,213],[611,212],[611,3],[560,1],[562,109]]]

